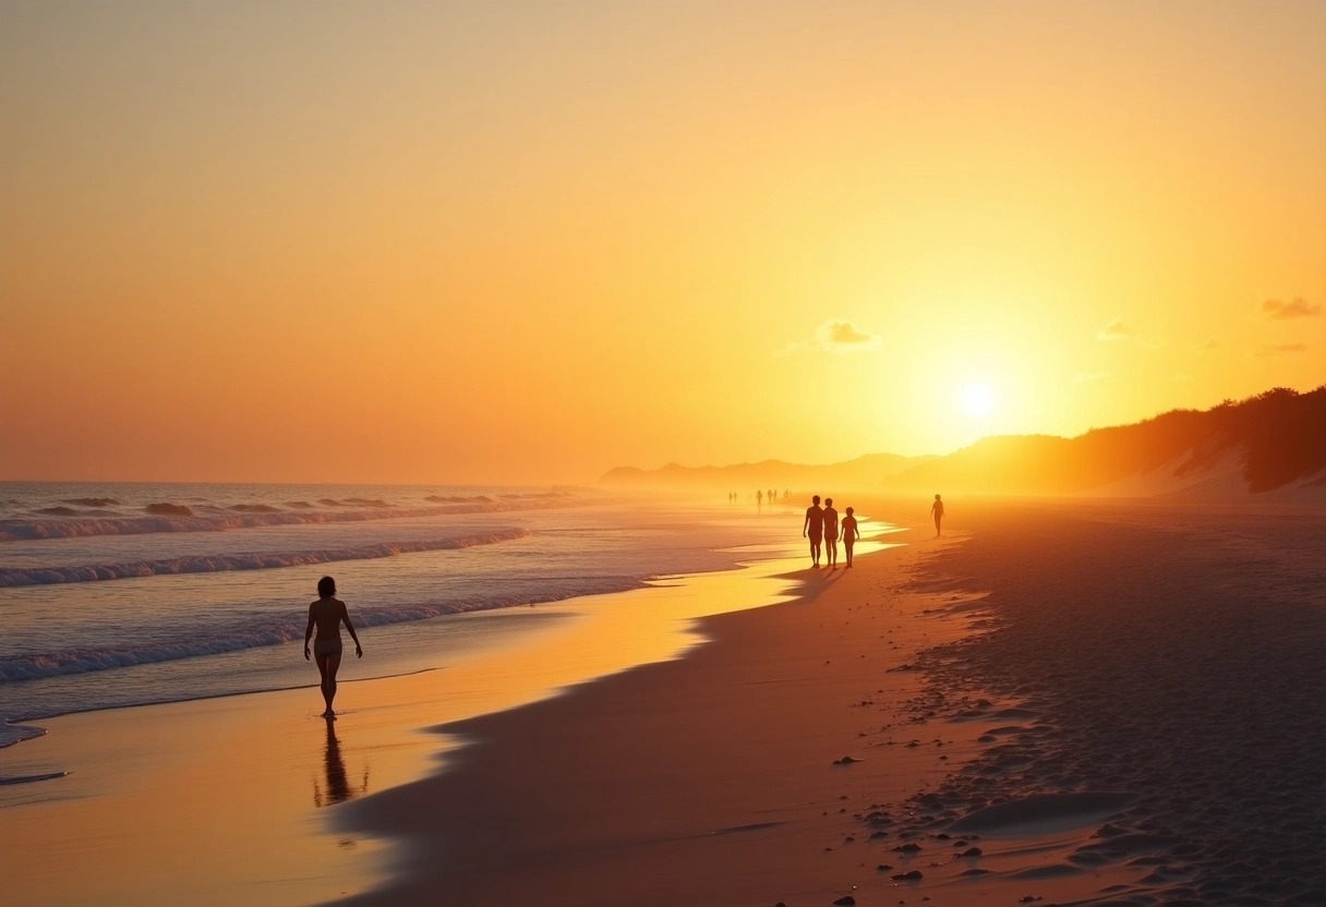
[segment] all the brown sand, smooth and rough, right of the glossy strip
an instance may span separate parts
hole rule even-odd
[[[350,903],[1326,903],[1322,514],[953,511],[448,727],[448,773],[346,810],[404,842]]]

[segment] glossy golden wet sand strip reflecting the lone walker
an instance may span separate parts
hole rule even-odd
[[[533,626],[427,671],[342,676],[349,688],[335,723],[317,716],[316,683],[42,719],[46,733],[0,749],[0,773],[53,778],[0,788],[7,819],[25,830],[7,842],[7,855],[29,870],[9,890],[29,903],[178,903],[178,891],[154,879],[163,853],[175,854],[174,878],[206,892],[196,903],[314,903],[362,890],[383,878],[386,846],[342,834],[326,818],[338,810],[318,809],[432,773],[457,745],[426,732],[439,723],[557,697],[638,660],[683,656],[700,642],[688,609],[721,610],[716,602],[731,593],[731,606],[778,601],[786,583],[777,564],[666,575],[533,611],[453,615]],[[727,591],[700,591],[708,586]],[[623,625],[643,626],[643,636],[626,639]],[[575,639],[579,658],[558,652]],[[347,784],[353,776],[361,781]],[[194,782],[208,777],[220,786]],[[312,808],[286,790],[292,782],[312,790]],[[328,800],[333,789],[341,794]],[[199,813],[210,817],[200,838],[187,821]],[[78,854],[80,870],[70,874],[52,853]]]

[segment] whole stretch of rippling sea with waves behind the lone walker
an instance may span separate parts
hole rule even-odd
[[[0,745],[69,712],[316,683],[300,643],[325,574],[358,676],[385,676],[528,626],[464,613],[728,569],[800,528],[790,503],[721,495],[0,483]]]

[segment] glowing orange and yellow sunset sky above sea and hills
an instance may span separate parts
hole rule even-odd
[[[589,481],[1310,390],[1326,4],[0,0],[0,479]]]

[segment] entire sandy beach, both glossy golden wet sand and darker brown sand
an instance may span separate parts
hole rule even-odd
[[[309,690],[58,719],[11,751],[74,773],[23,785],[5,874],[46,904],[1326,903],[1326,517],[949,522],[713,574],[711,607],[786,601],[704,644],[623,621],[550,699],[578,618],[518,609],[475,617],[542,621],[521,659],[347,684],[330,732]]]

